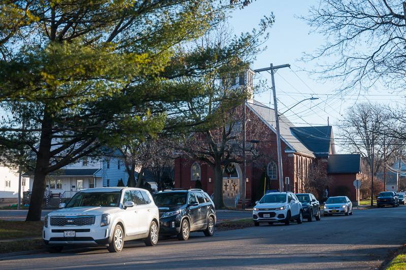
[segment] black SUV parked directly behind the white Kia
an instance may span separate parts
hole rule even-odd
[[[153,195],[159,209],[159,234],[188,240],[192,231],[214,234],[216,211],[210,196],[201,189],[164,190]]]

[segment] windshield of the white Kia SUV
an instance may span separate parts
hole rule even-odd
[[[120,203],[120,191],[114,192],[79,192],[67,203],[66,208],[71,207],[118,207]]]

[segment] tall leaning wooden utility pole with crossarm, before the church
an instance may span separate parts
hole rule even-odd
[[[281,132],[279,129],[279,114],[278,114],[278,103],[276,99],[276,88],[275,88],[275,72],[278,69],[282,69],[283,67],[290,67],[290,64],[281,64],[281,65],[275,65],[270,64],[269,67],[265,67],[264,69],[258,69],[254,70],[254,72],[263,72],[263,71],[270,71],[270,75],[272,78],[272,91],[274,94],[274,108],[275,108],[275,123],[276,123],[276,144],[278,148],[278,176],[279,176],[279,191],[283,192],[283,172],[282,172],[282,149],[281,149]]]

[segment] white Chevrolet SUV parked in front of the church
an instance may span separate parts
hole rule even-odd
[[[292,192],[267,193],[255,202],[252,211],[254,225],[267,222],[284,222],[289,225],[290,221],[296,220],[298,224],[303,221],[303,209],[300,201]]]

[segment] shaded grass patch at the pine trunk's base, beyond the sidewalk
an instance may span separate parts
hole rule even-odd
[[[0,220],[0,240],[41,236],[42,221]]]

